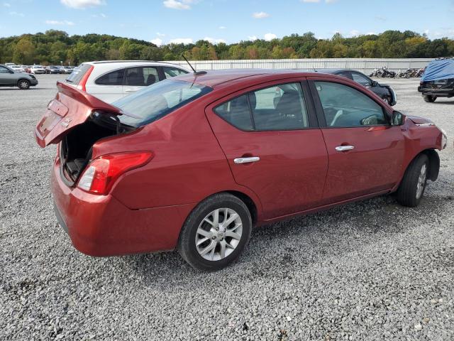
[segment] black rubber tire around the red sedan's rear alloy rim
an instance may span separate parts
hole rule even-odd
[[[199,236],[199,234],[197,234],[197,230],[199,229],[199,225],[204,228],[211,228],[210,224],[208,224],[206,220],[204,222],[204,218],[207,217],[207,215],[210,215],[211,212],[214,212],[214,210],[221,208],[231,209],[238,214],[242,224],[242,233],[236,247],[233,249],[233,251],[231,251],[230,254],[225,256],[225,258],[218,260],[208,260],[201,256],[201,254],[199,254],[199,251],[197,250],[196,238]],[[221,213],[219,217],[220,219],[223,219],[221,217]],[[228,226],[231,226],[231,224]],[[192,210],[189,217],[187,217],[187,220],[186,222],[184,222],[184,225],[182,227],[182,231],[179,234],[178,251],[179,254],[181,254],[182,258],[187,261],[187,263],[194,269],[203,271],[216,271],[223,269],[224,267],[228,266],[233,261],[236,261],[236,259],[238,259],[238,256],[240,256],[241,252],[243,251],[243,249],[245,249],[245,246],[249,242],[251,229],[252,219],[250,217],[250,212],[248,210],[248,207],[242,200],[229,193],[219,193],[212,195],[211,197],[206,198],[206,200],[200,202],[199,205],[197,205],[194,210]],[[225,238],[227,242],[228,237]],[[218,239],[215,239],[214,242],[211,242],[211,239],[214,239],[214,237],[208,238],[208,240],[206,240],[206,243],[209,243],[210,245],[215,242],[215,249],[218,250],[216,252],[219,252],[220,255],[221,241],[218,242]],[[231,243],[231,241],[229,243]],[[201,247],[203,247],[203,245],[204,244],[201,244]],[[211,254],[211,252],[207,252],[207,254]]]

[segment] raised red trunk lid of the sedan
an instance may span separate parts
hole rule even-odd
[[[49,103],[35,128],[35,139],[41,148],[60,142],[75,126],[87,121],[94,111],[125,114],[121,109],[65,83],[57,82],[57,89],[55,99]]]

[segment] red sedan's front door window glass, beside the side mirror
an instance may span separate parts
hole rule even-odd
[[[388,125],[382,107],[366,94],[347,85],[315,82],[327,126]]]

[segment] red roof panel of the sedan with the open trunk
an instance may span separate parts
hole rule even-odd
[[[231,85],[232,83],[248,82],[256,78],[265,80],[279,80],[279,78],[317,76],[315,72],[300,70],[275,70],[275,69],[227,69],[210,70],[203,74],[188,73],[187,75],[177,76],[175,80],[194,82],[207,87],[218,87],[219,85]]]

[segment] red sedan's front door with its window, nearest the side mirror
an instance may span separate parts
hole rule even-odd
[[[391,126],[384,104],[342,80],[311,77],[329,170],[323,202],[389,190],[399,180],[404,136]]]

